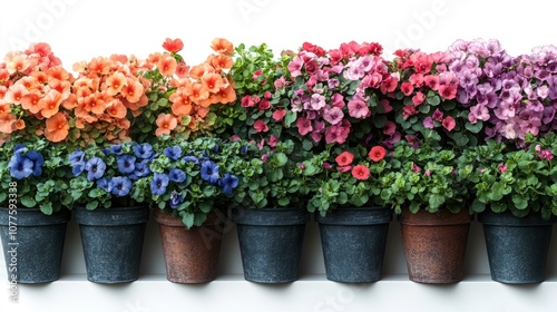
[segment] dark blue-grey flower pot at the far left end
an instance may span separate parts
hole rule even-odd
[[[66,227],[71,213],[45,215],[39,209],[0,208],[0,235],[8,280],[47,283],[60,277]],[[10,217],[11,216],[11,217]]]

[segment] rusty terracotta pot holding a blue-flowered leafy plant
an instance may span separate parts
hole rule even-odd
[[[195,140],[163,136],[155,145],[152,175],[139,183],[158,222],[167,277],[207,283],[216,277],[225,215],[238,186],[236,167],[247,167],[245,146],[215,137]]]

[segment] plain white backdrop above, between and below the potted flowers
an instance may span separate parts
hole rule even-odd
[[[266,42],[276,53],[282,49],[296,50],[304,41],[325,49],[336,48],[341,42],[350,40],[375,41],[384,47],[387,58],[391,58],[391,53],[398,48],[420,48],[433,52],[447,49],[457,39],[497,38],[510,53],[520,55],[528,53],[536,46],[557,45],[555,7],[550,1],[540,0],[516,3],[486,0],[4,0],[0,6],[0,57],[10,50],[25,49],[29,42],[45,41],[51,45],[65,67],[71,70],[74,62],[97,56],[135,53],[141,58],[147,57],[150,52],[162,51],[162,43],[167,37],[184,41],[182,55],[190,65],[205,59],[211,52],[211,41],[216,37],[227,38],[235,45]],[[261,311],[284,311],[275,310],[280,304],[290,304],[287,306],[291,306],[291,311],[362,311],[363,308],[368,310],[373,301],[385,304],[391,301],[399,308],[416,308],[407,311],[424,311],[426,308],[419,303],[412,305],[398,299],[405,291],[413,293],[418,302],[429,302],[428,311],[436,310],[433,308],[438,311],[469,311],[470,306],[478,311],[528,311],[534,305],[536,311],[556,310],[557,304],[548,296],[550,291],[554,291],[553,295],[557,293],[555,235],[548,264],[550,282],[540,286],[508,287],[491,283],[489,277],[480,277],[479,283],[463,282],[458,289],[438,287],[400,282],[405,281],[404,275],[397,277],[397,274],[405,273],[405,266],[400,232],[397,223],[392,224],[385,257],[385,281],[360,293],[319,280],[323,277],[319,277],[317,282],[310,279],[285,287],[258,286],[244,282],[241,277],[213,282],[203,287],[179,287],[165,281],[158,233],[153,223],[147,232],[141,276],[159,277],[154,277],[153,283],[135,282],[121,287],[95,285],[84,281],[82,275],[68,277],[85,272],[79,232],[72,222],[66,242],[62,281],[41,286],[21,286],[20,304],[9,304],[6,309],[7,292],[1,291],[4,287],[0,287],[1,311],[39,311],[37,308],[33,310],[26,306],[41,306],[40,311],[101,311],[97,306],[102,306],[102,311],[163,311],[163,308],[183,310],[178,305],[178,302],[184,304],[180,295],[190,295],[188,300],[194,301],[195,298],[213,301],[215,310],[205,311],[235,311],[233,306],[238,306],[237,302],[242,306],[244,295],[255,299],[257,310]],[[323,264],[315,224],[310,224],[307,234],[302,273],[322,275]],[[225,236],[219,267],[223,274],[242,274],[235,235],[233,228]],[[0,260],[0,279],[6,281],[3,259]],[[473,281],[473,276],[485,276],[488,272],[481,227],[473,223],[466,279]],[[348,295],[343,295],[342,291],[346,290]],[[165,292],[173,295],[165,295]],[[341,300],[343,304],[329,305],[329,309],[320,305],[331,295],[344,299]],[[167,296],[169,303],[156,300]],[[479,296],[485,303],[494,300],[497,303],[477,309],[471,303],[473,296]],[[231,301],[223,301],[218,308],[218,300]],[[41,305],[42,302],[45,305]],[[66,302],[63,306],[71,309],[62,309],[62,302]],[[201,309],[195,304],[185,304],[185,311]]]

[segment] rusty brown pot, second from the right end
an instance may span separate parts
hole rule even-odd
[[[399,215],[409,279],[418,283],[449,284],[462,281],[471,216],[403,209]]]

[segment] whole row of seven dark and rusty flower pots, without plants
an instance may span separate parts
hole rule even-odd
[[[8,279],[19,283],[46,283],[59,279],[69,212],[45,216],[20,212],[18,233],[9,234],[4,212],[0,234]],[[87,269],[96,283],[126,283],[139,277],[147,207],[114,208],[109,213],[76,208]],[[236,223],[244,277],[257,283],[287,283],[299,279],[299,265],[310,214],[299,208],[243,209],[231,212]],[[212,213],[203,226],[185,230],[169,214],[155,211],[167,270],[175,283],[208,283],[215,280],[225,214]],[[381,280],[392,211],[346,208],[319,223],[326,277],[345,283]],[[491,279],[501,283],[540,283],[553,223],[540,217],[517,222],[510,214],[486,213],[483,224]],[[399,216],[402,243],[411,281],[429,284],[458,283],[472,216],[467,212],[437,214],[409,211]],[[349,243],[346,243],[349,242]],[[10,270],[10,246],[17,246],[17,270]]]

